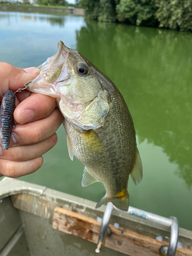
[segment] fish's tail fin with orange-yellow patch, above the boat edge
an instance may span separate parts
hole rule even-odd
[[[97,203],[95,208],[100,207],[102,204],[112,202],[115,207],[119,210],[127,211],[129,208],[129,194],[126,197],[114,197],[113,199],[108,199],[106,195],[101,198],[101,200]]]

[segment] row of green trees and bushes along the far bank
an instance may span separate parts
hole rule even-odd
[[[192,0],[80,0],[86,18],[192,31]]]

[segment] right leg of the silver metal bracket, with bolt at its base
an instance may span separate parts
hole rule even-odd
[[[172,219],[172,225],[170,226],[170,241],[169,245],[162,245],[159,249],[163,256],[175,256],[177,250],[177,242],[179,236],[179,224],[176,217],[170,217]]]

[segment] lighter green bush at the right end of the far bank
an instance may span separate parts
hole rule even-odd
[[[192,31],[192,0],[156,0],[162,28]]]

